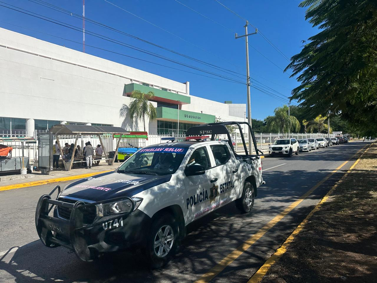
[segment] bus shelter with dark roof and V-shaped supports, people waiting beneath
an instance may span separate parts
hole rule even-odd
[[[106,149],[104,147],[103,140],[101,138],[101,135],[109,135],[109,136],[114,136],[114,135],[129,135],[130,132],[126,131],[123,128],[120,127],[109,127],[109,126],[86,126],[86,125],[55,125],[51,129],[49,129],[49,132],[52,132],[52,134],[55,135],[56,141],[58,142],[58,146],[60,149],[60,152],[62,153],[62,147],[60,144],[59,137],[61,136],[75,136],[75,146],[74,148],[77,147],[77,141],[78,138],[81,135],[97,135],[97,137],[100,140],[101,146],[103,148],[103,152],[105,155],[105,160],[107,161],[108,165],[112,165],[114,163],[116,154],[118,153],[118,148],[120,145],[120,140],[121,138],[118,139],[118,143],[116,145],[115,149],[115,154],[112,158],[109,158],[108,152],[106,152]],[[53,146],[53,145],[52,145]],[[50,150],[50,154],[52,155],[52,146]],[[72,154],[74,155],[74,154]],[[72,163],[74,163],[74,158],[72,156],[71,162],[67,163],[63,159],[63,165],[66,171],[70,171],[72,169]]]

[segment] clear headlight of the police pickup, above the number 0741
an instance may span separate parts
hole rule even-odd
[[[137,209],[143,200],[143,198],[132,197],[134,207],[133,210]],[[99,217],[121,214],[131,212],[132,203],[129,199],[118,200],[109,203],[101,203],[96,205],[96,214]]]

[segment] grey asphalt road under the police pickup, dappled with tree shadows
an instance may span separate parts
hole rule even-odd
[[[0,282],[193,282],[331,171],[349,161],[211,280],[245,283],[366,145],[368,142],[352,142],[291,158],[264,158],[263,178],[267,184],[259,189],[253,211],[240,214],[230,203],[201,218],[190,226],[192,232],[175,258],[157,271],[146,269],[137,252],[109,254],[99,261],[84,263],[65,248],[45,247],[35,231],[35,206],[40,195],[49,193],[55,184],[0,192]]]

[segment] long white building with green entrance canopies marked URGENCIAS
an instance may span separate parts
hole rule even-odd
[[[58,123],[113,125],[143,131],[143,122],[120,118],[135,89],[153,91],[157,119],[149,134],[176,134],[192,126],[244,121],[244,104],[220,103],[190,94],[180,83],[34,37],[0,28],[0,134],[33,134]],[[200,95],[200,94],[198,94]]]

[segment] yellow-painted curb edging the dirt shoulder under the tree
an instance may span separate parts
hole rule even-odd
[[[369,148],[367,148],[363,152],[363,154],[368,149]],[[360,157],[354,162],[354,164],[351,166],[351,168],[349,168],[348,171],[342,176],[342,178],[340,178],[340,180],[333,186],[333,188],[331,188],[328,191],[328,193],[314,207],[314,209],[308,214],[308,216],[299,224],[299,226],[297,226],[297,228],[292,232],[292,234],[287,238],[287,240],[285,240],[285,242],[280,246],[280,248],[277,249],[276,252],[273,255],[271,255],[270,258],[268,258],[268,260],[264,263],[264,265],[262,265],[261,268],[259,268],[258,271],[254,273],[254,275],[250,278],[249,281],[247,281],[247,283],[258,283],[258,282],[260,282],[262,280],[263,276],[266,275],[266,273],[268,272],[268,270],[270,269],[270,267],[277,260],[279,260],[279,258],[287,251],[288,246],[292,243],[292,241],[294,240],[294,237],[296,237],[300,233],[300,231],[303,229],[303,227],[305,226],[305,224],[308,222],[309,218],[312,217],[312,215],[314,214],[314,212],[319,211],[319,209],[321,208],[322,204],[327,201],[327,199],[329,198],[329,196],[339,186],[339,183],[341,183],[343,181],[343,179],[345,178],[345,176],[348,175],[349,172],[351,172],[351,170],[356,166],[357,163],[359,163],[359,160],[362,157],[362,155],[360,155]]]

